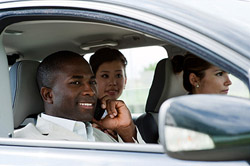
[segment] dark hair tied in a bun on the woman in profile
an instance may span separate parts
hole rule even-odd
[[[202,79],[205,76],[205,70],[212,66],[209,62],[192,53],[187,53],[184,56],[176,55],[171,61],[175,73],[183,71],[183,86],[190,93],[192,93],[192,84],[189,81],[189,75],[194,73],[197,77]]]

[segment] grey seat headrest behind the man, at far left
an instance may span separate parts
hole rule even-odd
[[[14,127],[26,117],[41,113],[43,101],[36,82],[36,71],[40,63],[31,60],[16,62],[10,69],[10,85]]]

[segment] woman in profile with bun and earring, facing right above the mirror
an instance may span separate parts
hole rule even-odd
[[[226,71],[191,53],[174,56],[172,64],[175,73],[183,71],[183,86],[189,94],[227,94],[232,84]]]

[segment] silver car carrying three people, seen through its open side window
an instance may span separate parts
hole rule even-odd
[[[2,0],[0,164],[250,165],[249,9],[247,0]],[[128,73],[128,83],[138,87],[129,88],[122,99],[147,144],[14,138],[14,129],[35,123],[34,114],[43,111],[35,88],[36,65],[59,50],[87,59],[103,47],[123,50],[125,56],[139,50],[128,58],[128,72],[135,74],[129,78]],[[171,75],[170,65],[171,57],[186,52],[231,73],[230,95],[186,95],[181,77]],[[156,59],[158,54],[162,56]],[[139,97],[134,99],[135,94]],[[220,124],[208,116],[217,110],[224,114],[212,118]],[[189,123],[182,124],[180,117]],[[226,125],[231,117],[236,120]],[[169,136],[177,129],[185,129],[188,137]],[[215,129],[220,130],[211,132]],[[228,133],[230,129],[235,132]],[[195,137],[189,137],[193,133]],[[197,141],[200,135],[202,141]],[[210,142],[205,147],[204,139]],[[200,148],[184,149],[190,140]]]

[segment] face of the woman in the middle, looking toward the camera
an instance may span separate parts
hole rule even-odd
[[[98,98],[106,95],[118,99],[125,88],[127,78],[125,69],[119,60],[101,64],[96,72]]]

